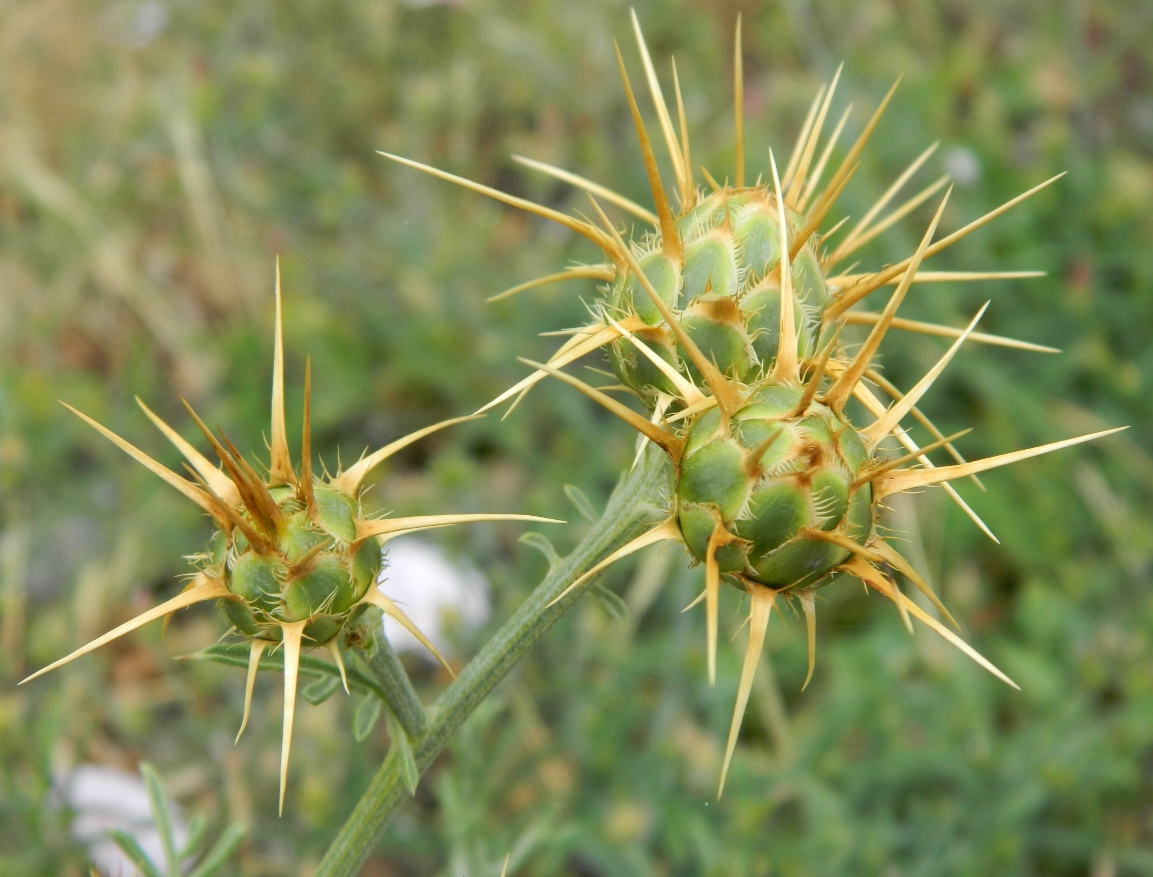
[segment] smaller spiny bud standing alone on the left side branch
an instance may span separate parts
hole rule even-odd
[[[430,433],[476,415],[455,417],[425,426],[361,456],[336,475],[318,474],[312,468],[311,448],[311,365],[304,370],[303,429],[300,464],[288,449],[285,418],[284,340],[281,320],[280,269],[276,280],[276,334],[272,366],[272,419],[270,459],[258,471],[224,433],[216,434],[181,400],[203,432],[220,467],[186,441],[179,432],[137,399],[144,414],[184,458],[191,478],[186,478],[157,462],[126,439],[91,417],[63,403],[68,410],[110,439],[149,471],[159,476],[208,514],[217,530],[204,553],[190,558],[195,572],[175,597],[142,612],[130,621],[97,637],[86,645],[37,671],[23,682],[86,655],[150,621],[167,619],[178,610],[206,600],[219,602],[232,623],[229,633],[248,643],[248,678],[244,686],[244,712],[238,741],[248,724],[253,689],[265,650],[282,651],[284,727],[280,755],[280,810],[284,811],[296,709],[296,683],[301,651],[325,648],[336,664],[345,691],[348,674],[341,655],[341,634],[352,633],[354,623],[376,606],[407,628],[452,673],[437,648],[405,612],[376,588],[383,566],[383,546],[402,534],[476,521],[535,521],[559,523],[552,519],[519,514],[445,514],[409,517],[366,515],[362,507],[364,478],[398,451]],[[223,468],[221,468],[223,467]],[[346,644],[377,643],[377,637],[344,637]],[[386,644],[384,648],[387,648]],[[402,671],[401,671],[402,675]],[[387,683],[387,680],[385,680]],[[395,685],[404,681],[392,680]],[[21,685],[23,685],[23,682]],[[410,689],[409,689],[410,690]],[[386,691],[387,694],[387,691]],[[404,691],[398,700],[407,695]],[[400,704],[391,704],[398,718]]]

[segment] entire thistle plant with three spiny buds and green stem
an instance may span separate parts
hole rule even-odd
[[[363,613],[376,606],[432,648],[400,608],[374,587],[382,566],[380,544],[401,532],[466,521],[549,519],[527,515],[374,519],[363,512],[361,491],[369,471],[391,454],[468,417],[420,430],[334,476],[318,476],[311,462],[310,377],[306,370],[303,440],[299,466],[294,464],[285,429],[279,280],[271,455],[265,467],[250,464],[224,436],[213,434],[191,409],[190,415],[223,469],[141,403],[184,456],[191,479],[165,468],[77,411],[199,506],[213,519],[218,531],[205,552],[194,559],[195,572],[184,591],[35,675],[150,620],[198,602],[219,600],[232,632],[248,644],[241,729],[248,718],[257,670],[267,666],[273,653],[281,658],[282,808],[296,676],[315,660],[302,658],[301,652],[311,647],[329,649],[334,661],[325,664],[329,676],[339,673],[346,678],[346,688],[351,680],[366,690],[378,690],[402,731],[393,726],[398,744],[390,750],[318,865],[317,877],[351,877],[357,872],[379,831],[414,789],[420,773],[533,643],[593,587],[600,573],[657,543],[679,543],[695,564],[703,566],[704,587],[698,602],[704,607],[710,683],[716,678],[722,583],[748,598],[748,642],[718,794],[724,787],[773,610],[783,603],[796,604],[805,617],[807,686],[815,667],[815,612],[821,589],[841,577],[862,581],[867,589],[895,604],[910,629],[912,619],[918,619],[1012,685],[955,632],[959,628],[945,606],[892,545],[884,526],[887,500],[898,493],[940,485],[992,537],[950,482],[1115,431],[965,460],[955,447],[963,433],[945,436],[918,407],[959,348],[966,341],[978,341],[1034,351],[1053,349],[977,332],[984,308],[964,327],[917,323],[897,316],[915,283],[1037,275],[1038,272],[1030,271],[927,271],[922,264],[1057,177],[959,230],[937,237],[949,198],[947,179],[936,180],[890,206],[932,156],[930,146],[856,224],[850,224],[847,217],[834,221],[838,197],[853,179],[860,156],[894,94],[890,90],[861,134],[835,161],[837,143],[850,118],[845,111],[826,136],[838,71],[813,101],[783,172],[769,152],[767,174],[751,182],[745,161],[738,21],[733,77],[736,167],[731,176],[702,169],[702,179],[698,181],[676,66],[672,67],[675,126],[635,16],[633,27],[675,179],[675,187],[666,189],[618,51],[625,96],[651,190],[651,209],[533,159],[518,160],[588,192],[591,218],[570,216],[389,156],[556,221],[593,241],[604,256],[598,264],[570,266],[495,296],[511,296],[560,280],[593,279],[602,283],[598,297],[590,303],[591,319],[560,333],[570,338],[548,362],[523,361],[533,372],[473,416],[510,400],[514,406],[532,387],[552,377],[575,387],[639,433],[633,467],[623,475],[603,515],[565,558],[543,537],[536,542],[547,547],[548,574],[429,709],[416,698],[387,643],[380,642],[376,633],[366,637],[357,629]],[[860,248],[939,192],[943,194],[933,219],[907,258],[867,272],[853,273],[854,267],[842,267]],[[602,203],[639,220],[641,230],[619,228],[602,210]],[[843,236],[837,239],[837,234]],[[895,289],[883,308],[860,309],[867,296],[889,286]],[[859,345],[846,340],[854,326],[868,330]],[[889,383],[877,368],[881,343],[895,330],[952,340],[940,361],[907,392]],[[594,387],[564,371],[601,349],[617,381],[612,386]],[[633,405],[610,393],[623,393]],[[909,431],[910,418],[928,433],[928,441],[914,439]],[[929,455],[936,452],[948,453],[951,462],[934,462]],[[896,574],[919,589],[943,621],[906,597]],[[366,679],[355,668],[346,674],[342,647],[366,652],[362,657],[376,671],[377,679]],[[377,647],[382,649],[378,651]],[[214,653],[226,657],[225,663],[241,660],[234,652]]]

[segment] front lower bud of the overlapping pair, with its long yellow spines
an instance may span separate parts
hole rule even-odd
[[[834,573],[843,572],[860,579],[897,604],[910,629],[910,615],[915,615],[990,673],[1016,687],[967,643],[909,600],[889,577],[889,569],[900,572],[933,600],[944,618],[952,621],[948,610],[912,566],[881,537],[877,520],[883,500],[894,493],[930,484],[948,486],[948,482],[956,478],[1116,432],[1105,430],[985,460],[934,467],[927,454],[949,446],[962,433],[919,447],[902,429],[900,422],[971,337],[984,308],[912,391],[900,395],[888,408],[876,400],[865,383],[865,375],[920,266],[943,207],[944,203],[937,209],[881,319],[852,357],[839,350],[839,356],[834,358],[838,342],[836,335],[814,358],[804,361],[791,354],[796,335],[790,331],[792,322],[786,281],[779,292],[781,340],[774,373],[752,384],[733,380],[722,375],[704,356],[686,327],[647,281],[643,270],[633,262],[640,285],[661,311],[686,358],[700,371],[711,395],[704,396],[695,385],[684,379],[679,383],[673,379],[680,392],[679,399],[675,400],[679,413],[661,417],[658,411],[657,422],[654,422],[551,365],[527,363],[575,386],[636,429],[673,462],[675,502],[669,519],[610,554],[570,585],[566,594],[610,564],[642,547],[662,540],[683,543],[698,561],[704,564],[704,591],[701,597],[706,603],[710,682],[716,674],[719,583],[728,581],[751,597],[748,647],[719,789],[724,788],[777,596],[797,598],[805,612],[809,645],[807,686],[815,656],[814,591],[831,581]],[[645,349],[643,342],[631,333],[626,333],[626,338],[638,349]],[[670,379],[676,375],[671,370],[668,373]],[[851,423],[844,410],[851,398],[860,401],[876,419],[864,428]],[[890,437],[905,445],[910,453],[896,459],[889,456],[880,445]],[[918,462],[925,468],[903,468]]]

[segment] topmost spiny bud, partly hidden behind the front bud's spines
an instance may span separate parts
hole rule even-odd
[[[852,309],[871,293],[896,282],[907,269],[910,259],[872,273],[836,272],[842,271],[839,266],[861,247],[925,204],[948,180],[939,177],[903,203],[890,207],[905,183],[933,154],[934,144],[917,157],[860,220],[843,233],[842,239],[829,245],[832,234],[841,229],[847,217],[831,228],[823,229],[826,219],[860,165],[860,154],[876,130],[896,85],[877,106],[839,162],[834,162],[831,158],[849,119],[849,109],[841,115],[823,145],[821,138],[829,120],[838,71],[813,101],[779,179],[766,179],[762,182],[759,177],[749,184],[745,180],[744,85],[738,25],[733,82],[737,167],[731,184],[728,179],[717,182],[714,175],[702,169],[707,188],[700,187],[694,177],[676,67],[673,86],[679,135],[635,15],[633,28],[664,146],[672,164],[676,187],[666,189],[662,181],[653,142],[619,52],[617,60],[621,82],[636,129],[654,210],[568,171],[520,156],[515,158],[521,164],[583,189],[590,196],[640,220],[642,227],[638,233],[617,233],[611,226],[598,226],[445,171],[386,152],[382,154],[550,219],[595,243],[604,254],[603,264],[575,265],[520,283],[492,296],[492,300],[560,280],[600,281],[601,295],[591,308],[596,319],[573,332],[572,338],[553,354],[548,364],[564,368],[594,350],[608,347],[610,364],[620,383],[635,393],[648,409],[664,411],[684,396],[678,380],[670,376],[670,371],[700,390],[704,390],[704,384],[700,369],[685,358],[684,348],[676,341],[668,319],[661,315],[646,290],[641,289],[634,264],[643,272],[657,296],[680,320],[706,358],[715,363],[722,375],[732,380],[755,383],[774,375],[778,353],[790,360],[806,360],[816,353],[823,339],[831,338],[841,327],[874,325],[880,319],[880,315],[875,312]],[[769,154],[771,157],[771,151]],[[1055,179],[1057,177],[1053,177]],[[935,242],[927,255],[932,256],[959,241],[1053,180]],[[782,241],[787,241],[787,258],[784,260],[789,265],[787,275],[783,275],[781,271]],[[915,281],[978,281],[1035,275],[1038,272],[1030,271],[920,272]],[[782,282],[786,282],[790,290],[786,297],[793,324],[793,340],[787,350],[781,348],[781,308],[785,303]],[[930,335],[956,338],[960,334],[960,330],[952,326],[912,320],[896,320],[892,325],[903,331]],[[972,339],[1020,349],[1053,350],[982,333],[974,333]],[[643,347],[638,347],[634,341]],[[522,394],[544,376],[543,370],[537,370],[481,410]],[[951,447],[949,452],[955,454]]]

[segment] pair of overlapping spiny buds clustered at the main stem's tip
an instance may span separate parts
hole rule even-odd
[[[708,189],[699,189],[680,84],[672,67],[678,128],[646,47],[640,24],[633,27],[676,179],[675,195],[664,187],[653,142],[641,116],[624,60],[617,62],[636,129],[655,211],[603,186],[540,161],[519,159],[586,190],[596,221],[574,218],[419,162],[386,154],[435,176],[459,183],[506,204],[560,222],[596,243],[605,256],[598,265],[578,265],[521,283],[497,298],[573,278],[601,280],[591,305],[594,320],[548,363],[523,362],[536,371],[481,410],[522,395],[545,376],[585,393],[633,426],[641,440],[658,446],[672,463],[668,517],[594,566],[571,589],[606,566],[658,542],[679,542],[704,565],[708,678],[716,676],[717,607],[721,582],[749,597],[749,634],[738,686],[718,794],[736,747],[741,718],[773,607],[777,598],[796,600],[806,617],[808,679],[815,653],[815,605],[820,588],[838,574],[862,581],[892,600],[906,627],[918,618],[1004,682],[1016,685],[936,618],[899,589],[899,572],[932,600],[947,621],[956,621],[911,564],[887,540],[882,524],[887,498],[929,485],[949,496],[989,536],[993,534],[949,484],[1030,456],[1088,441],[1117,430],[1064,439],[969,462],[954,447],[964,433],[944,436],[917,408],[966,340],[1004,347],[1052,350],[1013,339],[974,332],[985,311],[965,328],[921,324],[897,317],[914,282],[1033,277],[1035,272],[928,272],[922,262],[980,228],[1020,201],[1054,182],[1030,189],[960,230],[935,240],[949,199],[945,190],[917,250],[897,263],[866,273],[835,273],[843,260],[869,240],[944,188],[937,180],[881,216],[892,197],[920,168],[934,148],[922,152],[838,244],[830,243],[849,218],[821,232],[838,196],[859,167],[859,157],[876,129],[896,84],[866,123],[827,182],[826,168],[849,118],[841,116],[821,143],[839,70],[814,99],[784,173],[769,152],[770,179],[746,182],[743,119],[740,23],[734,51],[736,168],[732,182],[703,171]],[[648,226],[626,239],[600,202],[631,213]],[[851,271],[852,269],[850,269]],[[896,283],[881,312],[853,310],[871,293]],[[987,305],[986,305],[987,307]],[[842,341],[849,325],[871,326],[852,350]],[[941,360],[907,392],[875,368],[879,347],[892,328],[955,339]],[[595,388],[563,369],[608,347],[619,385]],[[889,396],[882,401],[874,388]],[[610,396],[632,396],[642,414]],[[862,419],[850,407],[856,400]],[[921,446],[904,425],[913,417],[933,436]],[[894,446],[899,446],[897,451]],[[939,448],[956,462],[934,464]]]

